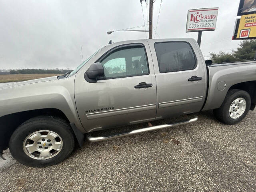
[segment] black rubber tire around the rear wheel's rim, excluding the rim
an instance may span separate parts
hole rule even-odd
[[[237,119],[233,119],[229,115],[229,108],[234,100],[237,98],[244,98],[246,100],[246,109],[244,111],[244,114],[240,116]],[[214,116],[221,122],[224,122],[226,124],[237,124],[238,122],[242,121],[244,117],[248,114],[251,106],[251,97],[248,94],[248,92],[244,90],[239,90],[239,89],[232,89],[229,90],[224,102],[218,109],[214,109],[213,113]]]

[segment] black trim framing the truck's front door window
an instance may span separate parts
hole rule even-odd
[[[144,75],[149,75],[150,74],[150,69],[149,69],[149,63],[148,63],[148,54],[146,52],[146,48],[145,45],[143,43],[131,43],[131,44],[123,44],[123,45],[119,45],[116,46],[110,50],[108,50],[107,52],[105,52],[102,56],[100,56],[100,58],[98,58],[98,60],[96,60],[96,62],[102,62],[102,60],[104,60],[106,57],[108,57],[112,52],[121,49],[121,48],[129,48],[129,47],[133,47],[133,46],[142,46],[144,48],[144,52],[145,52],[145,56],[146,56],[146,62],[147,62],[147,66],[148,66],[148,73],[145,74],[133,74],[133,75],[126,75],[126,76],[117,76],[117,77],[105,77],[105,78],[99,78],[98,80],[108,80],[108,79],[116,79],[116,78],[126,78],[126,77],[135,77],[135,76],[144,76]]]

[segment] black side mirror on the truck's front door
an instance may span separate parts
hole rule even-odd
[[[101,63],[92,64],[84,74],[85,80],[90,83],[97,82],[97,77],[102,77],[102,76],[104,76],[104,68]]]

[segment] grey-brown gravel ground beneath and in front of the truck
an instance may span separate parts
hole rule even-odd
[[[47,168],[0,160],[0,191],[256,191],[256,111],[97,143]],[[134,126],[136,127],[136,126]]]

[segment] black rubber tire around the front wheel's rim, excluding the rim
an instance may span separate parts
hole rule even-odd
[[[44,160],[34,159],[23,150],[23,142],[26,137],[40,130],[53,131],[62,138],[62,148],[52,158]],[[51,166],[65,160],[74,150],[74,145],[74,134],[68,122],[54,116],[38,116],[27,120],[14,131],[9,141],[12,156],[21,164],[31,167]]]

